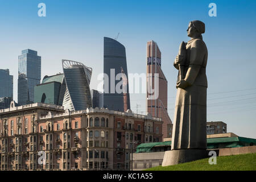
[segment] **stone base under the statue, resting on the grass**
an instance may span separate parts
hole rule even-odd
[[[207,158],[207,150],[205,149],[180,149],[164,152],[162,166],[171,166],[180,163],[187,163],[193,160]]]

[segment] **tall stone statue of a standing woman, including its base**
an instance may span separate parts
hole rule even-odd
[[[163,166],[205,158],[207,148],[207,66],[208,51],[201,34],[205,24],[188,25],[188,43],[182,42],[174,67],[179,70],[171,151]]]

